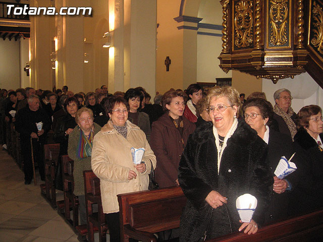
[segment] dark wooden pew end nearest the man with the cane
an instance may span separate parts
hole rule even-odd
[[[55,166],[58,165],[60,144],[44,145],[44,153],[45,184],[40,185],[40,191],[50,206],[56,209]]]

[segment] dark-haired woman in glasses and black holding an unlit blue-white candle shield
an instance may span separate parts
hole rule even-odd
[[[289,159],[293,151],[292,139],[290,136],[281,134],[270,127],[273,118],[273,106],[270,102],[262,98],[248,99],[243,105],[244,119],[258,136],[268,144],[267,160],[272,169],[274,177],[273,196],[269,209],[265,213],[265,223],[274,222],[288,217],[289,194],[297,184],[297,173],[288,175],[285,179],[279,179],[275,174],[275,169],[282,156]],[[296,158],[293,158],[295,162]]]

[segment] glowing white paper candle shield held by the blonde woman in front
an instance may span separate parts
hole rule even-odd
[[[242,222],[250,222],[257,207],[257,199],[251,194],[244,194],[237,198],[236,207]]]

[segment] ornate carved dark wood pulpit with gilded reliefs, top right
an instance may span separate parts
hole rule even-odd
[[[222,0],[220,67],[271,79],[308,72],[323,87],[323,4],[318,0]]]

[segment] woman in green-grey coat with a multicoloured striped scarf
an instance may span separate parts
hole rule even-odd
[[[91,169],[91,154],[94,136],[101,127],[93,123],[93,112],[82,107],[75,114],[77,126],[69,137],[68,155],[74,160],[74,194],[79,198],[81,224],[86,224],[83,170]]]

